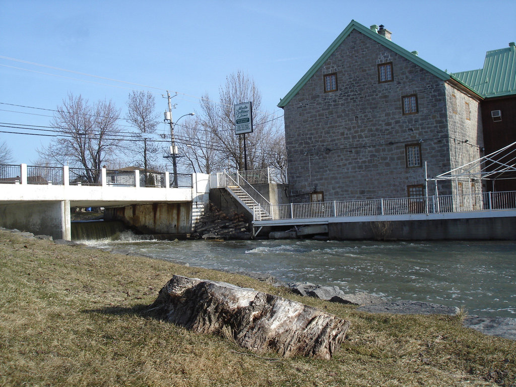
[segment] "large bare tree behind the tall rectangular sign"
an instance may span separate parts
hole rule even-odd
[[[278,134],[276,117],[263,109],[262,94],[254,80],[241,72],[228,75],[225,84],[219,89],[218,102],[209,99],[208,94],[204,96],[199,125],[192,127],[190,133],[183,134],[192,139],[203,138],[200,143],[216,150],[213,164],[218,164],[217,167],[230,166],[243,170],[244,137],[235,135],[234,105],[249,101],[252,102],[253,133],[246,134],[248,169],[270,166],[278,154],[277,150],[271,149],[271,145],[284,148],[284,140],[281,141],[284,137]],[[206,131],[209,137],[206,138],[207,134],[200,131]],[[196,153],[190,159],[200,157],[202,155]]]

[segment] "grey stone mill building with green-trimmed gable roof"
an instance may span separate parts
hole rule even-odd
[[[481,100],[383,26],[351,21],[278,105],[291,201],[425,196],[426,176],[482,156]]]

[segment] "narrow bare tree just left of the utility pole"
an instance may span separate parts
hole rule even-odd
[[[156,133],[158,119],[154,95],[150,92],[133,90],[127,99],[126,120],[134,125],[139,133],[138,141],[131,142],[129,149],[136,156],[136,163],[143,167],[147,184],[149,183],[147,171],[156,166],[160,151],[156,142],[149,141],[149,135]]]

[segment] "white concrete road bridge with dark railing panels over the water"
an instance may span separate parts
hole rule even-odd
[[[209,176],[178,177],[173,187],[169,172],[2,165],[0,225],[71,239],[71,207],[105,207],[142,232],[187,234],[208,202]]]

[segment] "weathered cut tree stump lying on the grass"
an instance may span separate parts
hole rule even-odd
[[[237,344],[284,357],[331,359],[349,321],[282,297],[224,282],[174,276],[152,308],[160,318],[199,333],[231,331]]]

